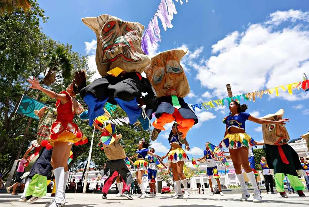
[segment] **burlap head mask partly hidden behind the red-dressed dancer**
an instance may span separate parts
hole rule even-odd
[[[40,118],[36,142],[41,145],[43,140],[49,139],[52,123],[57,119],[57,110],[52,107],[44,106],[39,111],[35,110],[35,114]]]

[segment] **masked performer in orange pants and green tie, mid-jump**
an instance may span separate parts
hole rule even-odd
[[[184,144],[187,132],[198,118],[189,108],[183,98],[190,93],[190,86],[186,74],[180,65],[183,50],[169,50],[161,52],[151,58],[147,78],[155,88],[158,97],[158,107],[155,111],[155,127],[151,133],[151,140],[155,141],[161,130],[165,130],[166,123],[178,123],[179,141]]]

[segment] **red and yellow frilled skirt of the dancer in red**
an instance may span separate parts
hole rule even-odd
[[[55,142],[71,142],[75,145],[82,145],[88,142],[87,137],[80,128],[73,122],[55,121],[52,124],[50,144],[53,146]]]

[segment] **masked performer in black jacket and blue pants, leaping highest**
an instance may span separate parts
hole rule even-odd
[[[88,106],[88,112],[81,115],[89,119],[89,125],[95,117],[105,113],[107,102],[118,104],[128,115],[130,124],[139,121],[142,128],[150,128],[146,110],[156,106],[156,94],[148,79],[140,73],[150,63],[150,59],[141,49],[141,37],[144,26],[138,22],[127,22],[117,17],[102,14],[98,17],[83,18],[82,21],[97,36],[96,65],[102,76],[86,86],[83,72],[77,73],[75,80],[81,97]],[[142,93],[148,93],[142,97]]]

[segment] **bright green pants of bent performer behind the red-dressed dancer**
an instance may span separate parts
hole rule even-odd
[[[33,197],[43,197],[47,191],[47,177],[35,174],[26,191],[26,197],[32,195]]]

